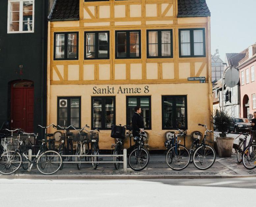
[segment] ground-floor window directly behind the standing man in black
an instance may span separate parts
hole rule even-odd
[[[141,106],[141,116],[145,129],[151,129],[151,97],[150,96],[127,96],[126,97],[126,124],[131,126],[131,118],[134,107]]]

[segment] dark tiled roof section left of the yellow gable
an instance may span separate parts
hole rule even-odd
[[[79,20],[79,0],[55,0],[48,19]]]

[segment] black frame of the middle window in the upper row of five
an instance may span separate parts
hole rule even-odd
[[[117,57],[117,33],[126,32],[126,57]],[[130,57],[130,32],[139,33],[139,57]],[[115,58],[116,59],[141,59],[141,30],[116,30],[115,31]]]

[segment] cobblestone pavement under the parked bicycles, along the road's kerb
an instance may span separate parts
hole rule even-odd
[[[103,161],[112,161],[113,158],[105,157]],[[74,160],[74,159],[73,159]],[[215,163],[213,166],[205,171],[198,170],[195,168],[193,163],[190,163],[187,168],[183,171],[173,171],[171,170],[165,163],[164,155],[159,154],[151,154],[150,161],[147,166],[142,171],[135,172],[128,167],[127,173],[124,173],[122,164],[120,165],[119,170],[115,170],[113,163],[100,163],[97,170],[92,168],[91,163],[83,163],[81,165],[81,169],[78,170],[75,163],[65,163],[63,170],[59,170],[54,175],[42,175],[37,171],[37,169],[33,169],[31,172],[24,171],[20,168],[15,175],[0,175],[0,178],[42,178],[49,177],[49,178],[100,178],[100,177],[108,177],[108,178],[132,178],[140,177],[149,178],[152,176],[158,176],[162,178],[172,178],[176,177],[179,178],[204,178],[209,176],[213,176],[215,178],[224,178],[224,177],[236,177],[236,176],[256,176],[256,169],[254,170],[247,170],[244,168],[243,164],[237,163],[236,154],[232,154],[230,158],[216,158]],[[169,177],[168,177],[169,176]]]

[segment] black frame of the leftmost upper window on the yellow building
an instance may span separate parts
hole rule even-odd
[[[76,34],[76,58],[68,58],[68,35]],[[64,58],[56,58],[56,35],[64,36]],[[53,47],[53,60],[78,60],[79,51],[79,32],[55,32],[54,33],[54,47]]]

